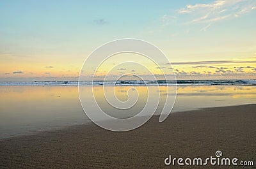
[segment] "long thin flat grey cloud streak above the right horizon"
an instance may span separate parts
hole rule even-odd
[[[256,61],[195,61],[195,62],[172,62],[172,64],[228,64],[228,63],[256,63]],[[168,64],[168,63],[166,63]]]

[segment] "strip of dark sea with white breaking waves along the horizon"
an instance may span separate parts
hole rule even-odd
[[[34,81],[0,82],[0,85],[256,85],[255,79],[246,80],[118,80],[118,81]]]

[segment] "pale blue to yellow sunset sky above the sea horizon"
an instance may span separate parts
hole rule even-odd
[[[95,48],[122,38],[156,45],[177,79],[256,78],[255,18],[255,0],[0,1],[0,81],[77,80]],[[145,73],[123,66],[113,75]]]

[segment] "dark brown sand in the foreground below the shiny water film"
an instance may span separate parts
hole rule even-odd
[[[95,124],[0,140],[0,168],[241,168],[166,166],[164,159],[223,158],[256,165],[256,105],[216,107],[154,116],[138,129],[112,132]]]

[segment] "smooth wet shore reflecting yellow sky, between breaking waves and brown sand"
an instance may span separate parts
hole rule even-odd
[[[161,112],[164,86],[150,86],[159,94],[160,102],[156,114]],[[113,87],[105,87],[113,90]],[[93,88],[95,98],[109,115],[131,117],[138,114],[147,100],[147,87],[135,86],[137,92],[127,91],[131,86],[116,86],[116,98],[127,101],[128,96],[138,94],[138,103],[125,112],[115,110],[106,104],[102,86]],[[84,86],[84,92],[91,90]],[[132,89],[135,90],[135,89]],[[0,138],[28,135],[41,130],[61,128],[67,125],[86,124],[89,119],[79,103],[77,86],[1,86],[0,87]],[[102,95],[103,94],[103,95]],[[177,87],[177,99],[173,112],[204,107],[223,107],[256,103],[256,87],[227,85],[180,85]]]

